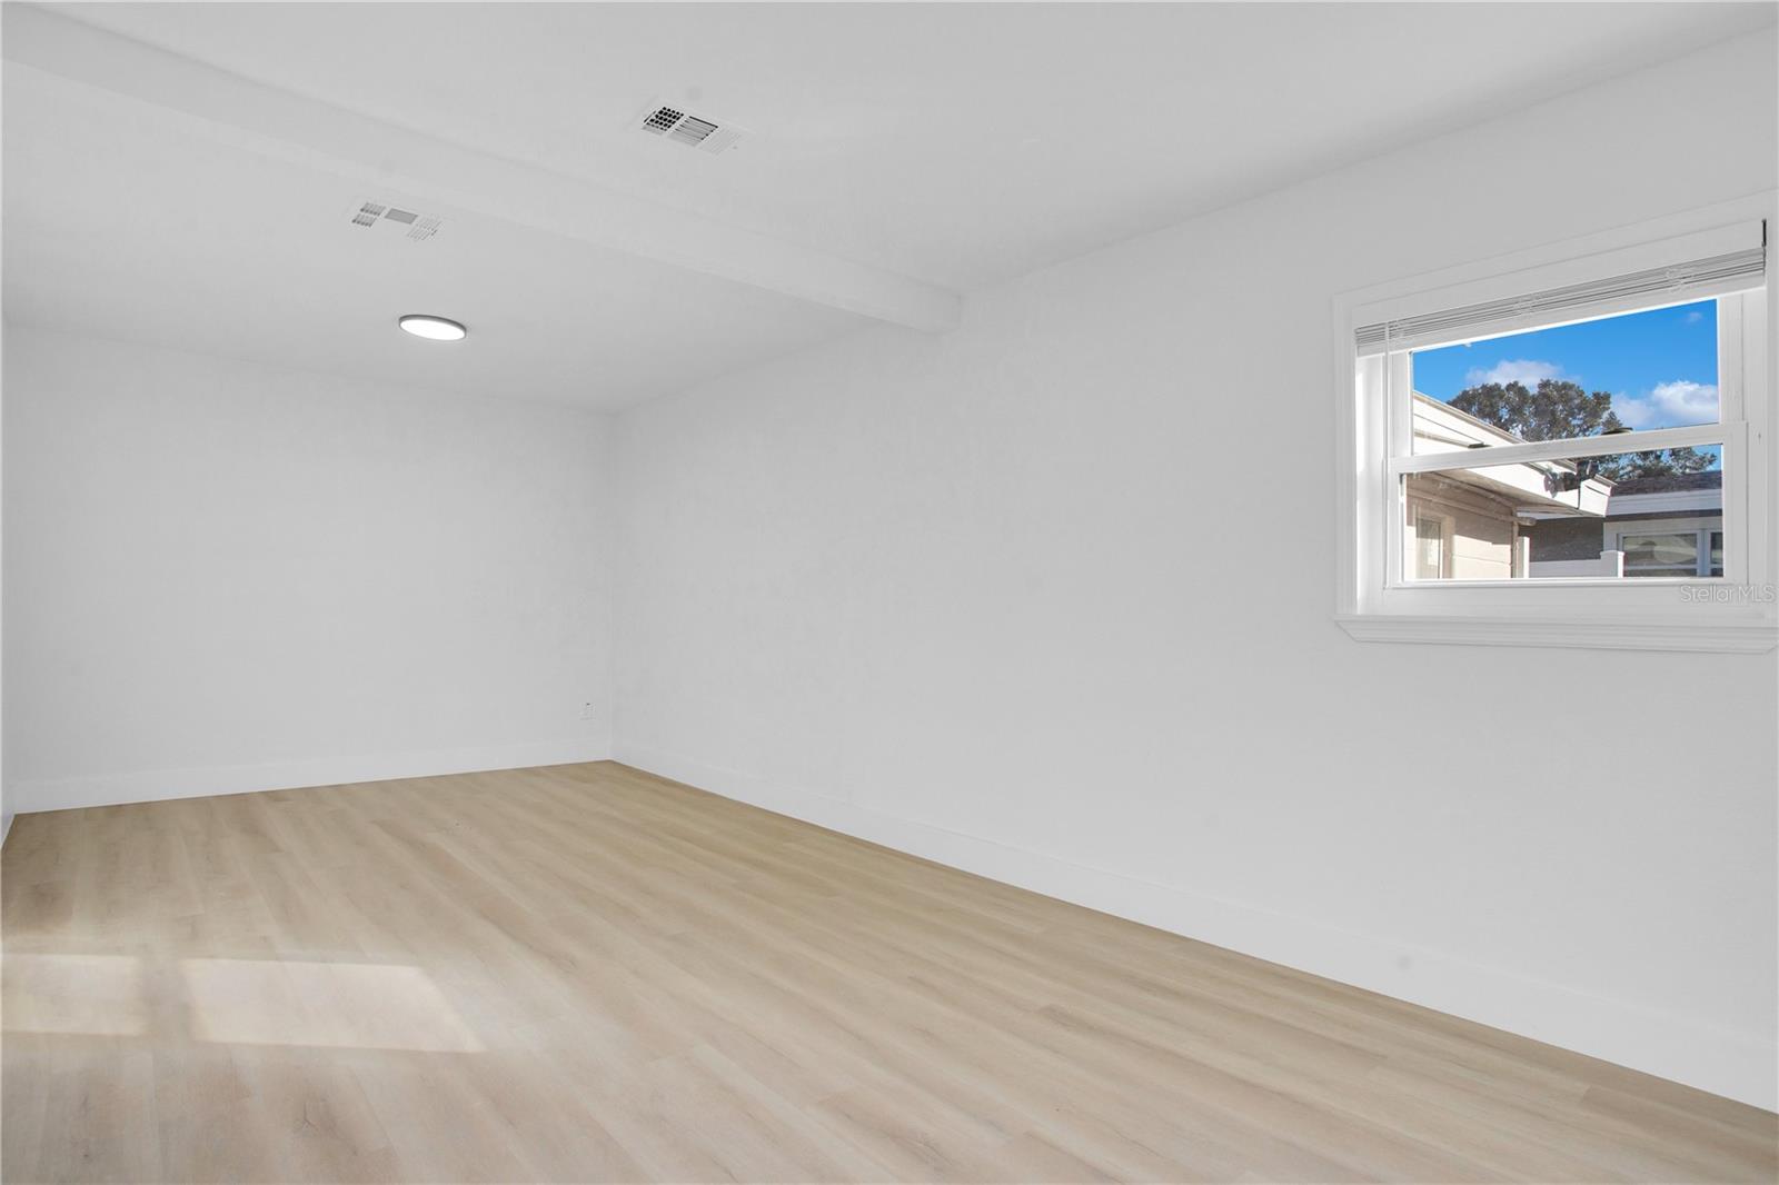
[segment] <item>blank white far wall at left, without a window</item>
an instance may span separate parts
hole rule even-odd
[[[9,810],[605,756],[607,418],[9,324],[4,441]]]

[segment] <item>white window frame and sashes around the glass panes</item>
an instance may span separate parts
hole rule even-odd
[[[1774,596],[1775,450],[1772,402],[1774,313],[1779,310],[1775,238],[1767,237],[1765,286],[1719,297],[1719,423],[1638,431],[1583,441],[1494,447],[1489,464],[1551,461],[1679,445],[1722,445],[1724,576],[1544,576],[1514,580],[1405,580],[1400,482],[1405,473],[1477,464],[1462,454],[1413,454],[1407,407],[1409,352],[1361,358],[1361,326],[1436,310],[1505,301],[1704,258],[1763,219],[1779,230],[1779,192],[1724,203],[1493,262],[1377,285],[1334,299],[1338,391],[1336,612],[1356,639],[1622,649],[1768,651],[1779,642]],[[1681,304],[1711,294],[1642,299],[1619,311]],[[1599,310],[1612,311],[1612,310]],[[1596,313],[1598,315],[1598,313]],[[1526,326],[1533,327],[1533,326]],[[1416,347],[1420,349],[1420,347]],[[1386,367],[1395,372],[1386,375]],[[1386,381],[1388,377],[1388,381]],[[1384,391],[1389,391],[1386,397]],[[1402,409],[1393,411],[1397,400]],[[1722,585],[1713,594],[1685,585]]]

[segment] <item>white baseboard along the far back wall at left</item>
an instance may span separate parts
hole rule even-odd
[[[436,778],[439,774],[475,774],[489,769],[603,762],[608,756],[610,751],[605,742],[596,738],[537,740],[516,746],[370,753],[361,756],[276,762],[269,765],[213,765],[206,769],[94,774],[89,778],[23,779],[9,785],[5,797],[9,808],[25,815],[28,811],[60,811],[76,806],[116,806],[119,802],[196,799],[212,794],[295,790],[301,786],[338,786],[354,781],[388,781],[391,778]]]

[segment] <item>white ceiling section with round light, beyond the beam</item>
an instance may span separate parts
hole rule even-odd
[[[169,130],[139,103],[5,78],[5,313],[361,379],[623,406],[866,324],[838,310],[452,217],[358,228],[365,185]],[[443,347],[395,329],[443,313]]]

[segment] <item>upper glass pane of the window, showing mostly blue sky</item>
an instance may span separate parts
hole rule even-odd
[[[1717,423],[1717,301],[1414,351],[1414,452]]]

